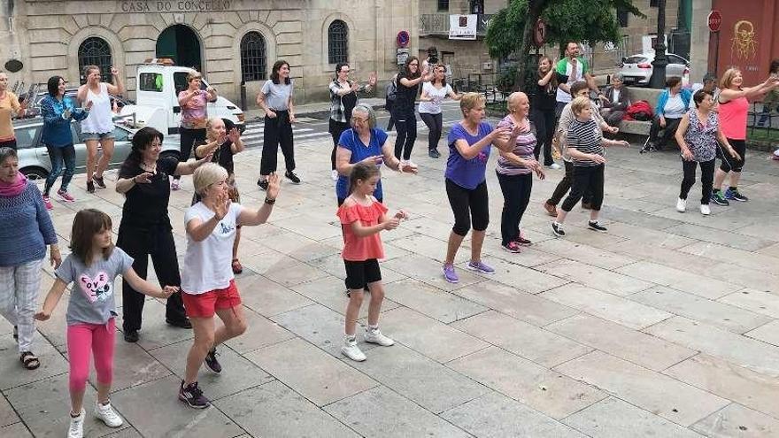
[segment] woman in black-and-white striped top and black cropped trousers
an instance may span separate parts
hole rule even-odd
[[[567,148],[574,160],[573,184],[571,193],[563,201],[562,208],[557,213],[557,220],[551,224],[552,231],[559,237],[566,235],[562,224],[568,211],[571,211],[574,205],[582,199],[584,191],[588,188],[592,193],[590,229],[605,232],[606,228],[598,224],[598,214],[600,206],[603,204],[604,146],[630,145],[624,140],[608,140],[603,137],[600,127],[592,119],[589,98],[576,97],[571,102],[571,111],[574,112],[575,119],[571,123],[571,127],[568,128]]]

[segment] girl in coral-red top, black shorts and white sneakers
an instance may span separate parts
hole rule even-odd
[[[338,208],[336,215],[341,219],[343,229],[343,264],[346,265],[346,287],[349,288],[349,304],[346,306],[346,335],[341,352],[351,360],[361,362],[365,354],[357,346],[357,319],[362,306],[363,288],[371,293],[368,307],[368,327],[365,341],[383,347],[394,344],[379,331],[379,311],[382,310],[384,288],[379,258],[384,258],[382,239],[379,232],[393,230],[406,217],[404,211],[387,216],[387,207],[373,196],[379,181],[379,168],[375,165],[358,163],[349,177],[349,196]]]

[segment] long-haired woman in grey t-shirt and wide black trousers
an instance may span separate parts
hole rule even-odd
[[[274,64],[271,79],[267,80],[259,90],[257,104],[265,110],[265,128],[263,129],[262,159],[259,164],[259,180],[257,185],[267,190],[267,176],[276,172],[276,156],[279,144],[282,145],[284,165],[287,171],[284,176],[295,184],[300,179],[295,174],[295,150],[292,142],[292,123],[295,122],[295,111],[292,106],[292,80],[289,79],[289,64],[279,59]]]

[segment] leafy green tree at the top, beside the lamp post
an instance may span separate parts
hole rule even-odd
[[[530,46],[538,18],[546,23],[547,43],[560,47],[568,41],[618,43],[617,9],[644,17],[632,0],[509,0],[490,19],[484,41],[492,58],[519,57],[514,89],[525,88],[528,72],[533,69],[529,65]]]

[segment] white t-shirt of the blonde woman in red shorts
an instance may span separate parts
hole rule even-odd
[[[181,292],[199,295],[230,285],[230,280],[234,278],[230,264],[233,261],[235,225],[241,211],[241,204],[230,204],[225,217],[213,228],[211,235],[201,242],[196,242],[187,234],[187,252],[181,270]],[[213,211],[202,202],[192,205],[184,215],[184,227],[192,219],[206,222],[213,215]]]

